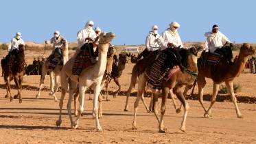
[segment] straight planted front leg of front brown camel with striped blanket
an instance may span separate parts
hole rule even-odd
[[[166,132],[167,129],[165,126],[163,126],[163,116],[165,115],[165,110],[166,110],[166,101],[169,93],[169,88],[164,87],[162,89],[162,103],[161,103],[161,117],[159,120],[159,132]]]

